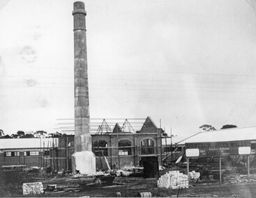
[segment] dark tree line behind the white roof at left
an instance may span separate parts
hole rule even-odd
[[[59,138],[63,135],[66,135],[65,133],[59,133],[58,131],[56,133],[48,133],[46,131],[36,131],[36,132],[27,132],[24,131],[17,131],[17,133],[8,135],[4,134],[3,130],[0,129],[0,138]]]

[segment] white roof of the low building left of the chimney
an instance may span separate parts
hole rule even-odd
[[[2,138],[0,149],[52,148],[58,146],[58,138]]]

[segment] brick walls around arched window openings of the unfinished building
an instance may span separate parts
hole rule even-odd
[[[156,156],[158,162],[161,162],[161,133],[162,129],[157,129],[156,126],[149,126],[149,133],[146,133],[146,127],[144,127],[143,133],[138,131],[137,133],[105,133],[105,134],[92,134],[91,142],[92,146],[95,142],[99,140],[104,140],[107,142],[107,155],[104,156],[107,158],[107,162],[110,167],[113,168],[123,168],[125,166],[138,166],[140,165],[140,160],[144,156]],[[67,139],[68,138],[68,141]],[[143,155],[142,154],[142,140],[150,139],[154,143],[154,151],[151,155]],[[119,155],[119,141],[120,140],[128,140],[130,141],[131,153],[128,156]],[[71,163],[69,162],[70,157],[72,156],[74,149],[74,135],[63,136],[59,138],[59,150],[55,151],[54,154],[51,154],[51,158],[53,155],[59,160],[54,161],[54,169],[57,170],[66,169],[67,166],[67,142],[70,143],[70,147],[68,147],[68,170],[70,170]],[[97,149],[97,147],[95,148]],[[92,151],[93,148],[92,148]],[[96,156],[96,169],[105,170],[107,169],[107,163],[105,162],[105,158],[100,153],[100,156]],[[61,159],[66,158],[66,159]]]

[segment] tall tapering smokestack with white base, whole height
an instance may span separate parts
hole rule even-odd
[[[72,156],[73,173],[96,172],[95,155],[91,151],[89,88],[86,51],[86,11],[84,3],[74,3],[74,73],[75,73],[75,153]]]

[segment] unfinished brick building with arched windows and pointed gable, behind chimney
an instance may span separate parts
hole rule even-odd
[[[103,121],[105,122],[105,121]],[[107,123],[105,122],[107,126]],[[96,169],[106,170],[149,164],[158,166],[161,162],[162,133],[150,117],[147,117],[140,131],[124,131],[115,124],[105,132],[91,134],[92,151],[96,155]],[[74,152],[74,135],[59,138],[58,147],[50,150],[47,158],[53,170],[71,170],[71,155]]]

